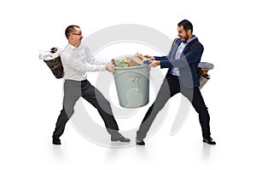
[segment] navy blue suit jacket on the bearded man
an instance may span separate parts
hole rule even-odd
[[[189,42],[189,44],[183,49],[183,55],[180,59],[175,59],[177,48],[181,43],[181,38],[178,38],[172,43],[171,51],[168,55],[157,57],[156,60],[160,60],[160,68],[169,68],[167,75],[171,74],[172,67],[179,68],[179,80],[185,88],[195,88],[200,86],[199,76],[196,71],[197,65],[201,61],[201,55],[204,51],[204,47],[198,38]]]

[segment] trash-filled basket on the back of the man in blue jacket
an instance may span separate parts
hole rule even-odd
[[[199,74],[200,87],[202,88],[210,79],[211,75],[208,74],[209,70],[212,70],[214,65],[208,62],[201,62],[197,65],[197,72]]]

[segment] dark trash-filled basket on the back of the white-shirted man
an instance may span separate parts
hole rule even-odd
[[[63,65],[61,63],[61,48],[39,51],[39,59],[44,59],[46,65],[54,74],[55,78],[63,77]]]

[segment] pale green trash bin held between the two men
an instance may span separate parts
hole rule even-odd
[[[115,87],[119,105],[126,108],[137,108],[147,105],[149,101],[148,65],[131,67],[114,67]]]

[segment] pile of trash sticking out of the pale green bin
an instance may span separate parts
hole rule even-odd
[[[113,67],[131,67],[143,65],[143,54],[134,54],[133,56],[125,56],[123,59],[111,59]]]

